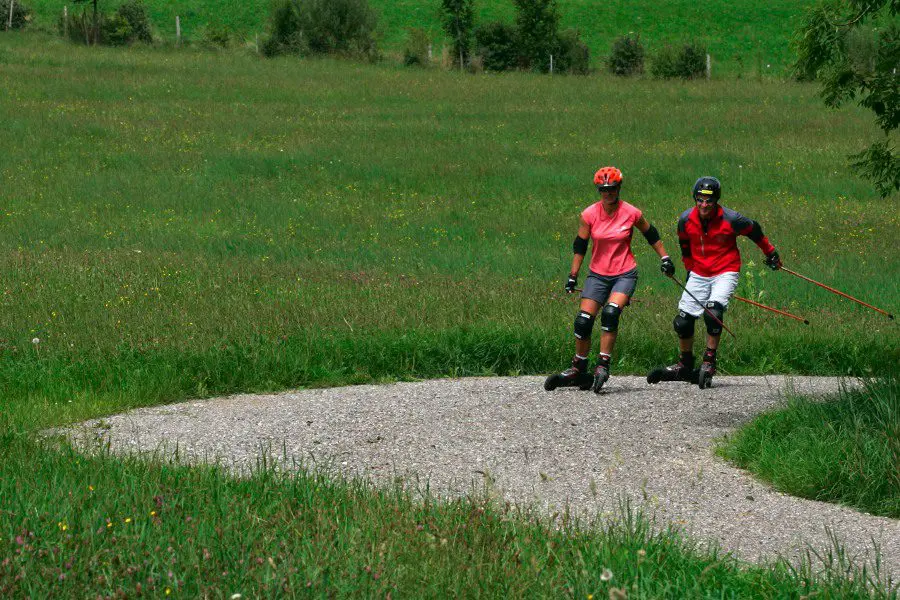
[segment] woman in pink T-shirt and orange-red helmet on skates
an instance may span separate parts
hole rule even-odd
[[[631,251],[631,238],[636,228],[660,257],[660,270],[666,275],[675,273],[675,265],[659,239],[659,231],[651,225],[639,209],[619,199],[622,172],[615,167],[603,167],[594,174],[594,184],[600,201],[581,213],[578,235],[572,245],[575,256],[566,282],[566,292],[575,291],[578,272],[592,242],[590,273],[581,292],[581,306],[575,317],[575,356],[572,366],[551,375],[544,388],[561,386],[591,388],[599,393],[609,379],[610,358],[619,329],[619,316],[628,306],[637,286],[637,263]],[[603,310],[600,310],[603,307]],[[600,313],[600,354],[593,376],[588,370],[591,351],[591,331]]]

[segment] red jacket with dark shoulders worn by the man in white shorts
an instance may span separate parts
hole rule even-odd
[[[713,277],[729,271],[741,270],[741,253],[737,236],[746,235],[764,254],[775,247],[763,235],[759,223],[730,208],[717,206],[708,220],[700,220],[697,207],[689,208],[678,217],[678,243],[684,268],[702,277]]]

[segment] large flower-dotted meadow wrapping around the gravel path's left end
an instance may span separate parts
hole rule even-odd
[[[714,174],[786,264],[896,312],[896,198],[846,167],[876,134],[867,113],[765,80],[473,77],[18,34],[0,37],[0,89],[6,592],[864,594],[858,578],[741,566],[671,536],[563,535],[481,521],[476,501],[416,508],[315,479],[88,459],[34,432],[234,391],[554,371],[572,351],[561,290],[577,214],[607,163],[670,252],[690,186]],[[734,306],[723,372],[895,367],[894,323],[742,249],[740,293],[812,325]],[[641,238],[636,250],[614,375],[674,355],[676,290]],[[289,531],[300,514],[308,529]],[[420,524],[432,537],[401,543]],[[448,558],[472,548],[474,562]],[[600,585],[603,568],[621,579]],[[441,587],[417,594],[417,572]],[[508,587],[478,587],[492,581]]]

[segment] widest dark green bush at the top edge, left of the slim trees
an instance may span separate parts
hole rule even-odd
[[[377,17],[368,0],[277,0],[263,53],[374,59]]]

